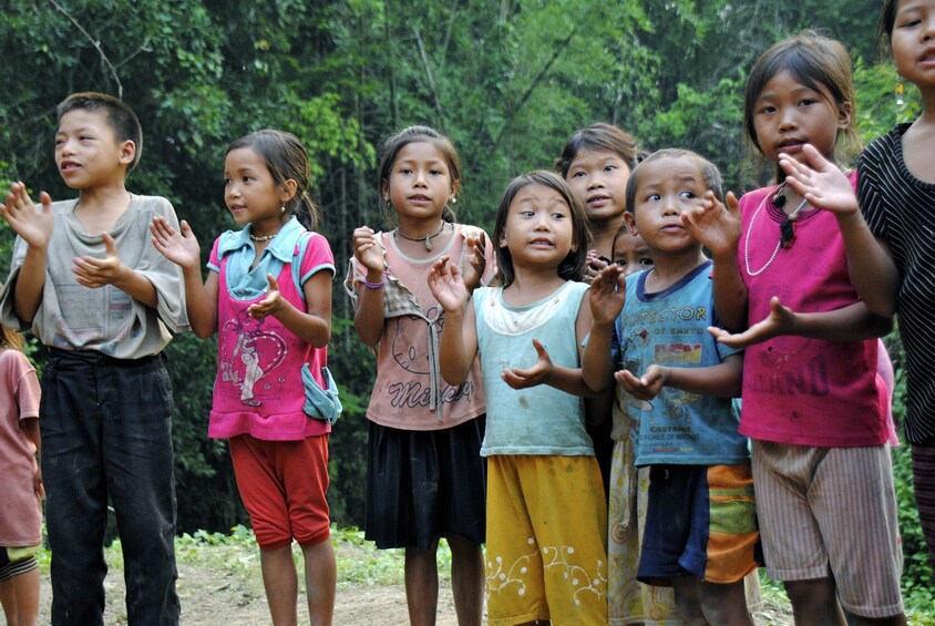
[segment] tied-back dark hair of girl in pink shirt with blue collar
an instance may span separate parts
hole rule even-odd
[[[235,141],[227,146],[225,154],[242,147],[248,147],[263,157],[266,168],[278,186],[284,186],[289,179],[296,182],[296,193],[286,203],[286,212],[295,215],[309,230],[318,229],[318,207],[308,195],[308,151],[301,140],[292,133],[264,129]]]

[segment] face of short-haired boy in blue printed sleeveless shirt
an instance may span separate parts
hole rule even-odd
[[[681,214],[701,205],[708,185],[690,158],[664,157],[640,165],[634,213],[625,215],[654,256],[701,245],[681,223]],[[654,259],[655,260],[655,259]]]

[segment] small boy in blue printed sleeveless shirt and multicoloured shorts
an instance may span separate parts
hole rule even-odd
[[[654,266],[625,287],[617,266],[592,283],[608,297],[592,299],[604,307],[593,311],[583,369],[593,389],[607,384],[616,327],[624,369],[614,378],[639,424],[635,463],[649,466],[639,581],[672,586],[689,623],[752,625],[743,577],[757,568],[753,480],[731,402],[742,357],[707,331],[717,325],[711,261],[681,224],[720,197],[717,167],[688,151],[659,151],[634,170],[626,222]]]

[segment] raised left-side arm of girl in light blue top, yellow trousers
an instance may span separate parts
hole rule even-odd
[[[429,270],[429,289],[444,309],[444,325],[439,340],[439,365],[442,378],[459,386],[468,378],[477,356],[477,327],[471,296],[461,273],[448,256]]]

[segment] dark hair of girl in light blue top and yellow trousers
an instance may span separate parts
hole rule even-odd
[[[493,240],[496,246],[496,266],[501,284],[504,287],[508,287],[515,278],[513,256],[510,254],[510,248],[500,245],[500,242],[503,240],[503,233],[506,229],[506,217],[510,215],[510,205],[513,204],[520,191],[530,185],[543,185],[544,187],[555,189],[562,196],[562,199],[565,201],[565,204],[568,205],[572,212],[572,249],[558,265],[558,276],[565,280],[580,280],[584,275],[585,261],[587,260],[587,246],[590,239],[584,206],[582,206],[580,201],[564,178],[545,170],[536,170],[535,172],[513,178],[506,185],[503,197],[500,198],[500,204],[496,207]]]

